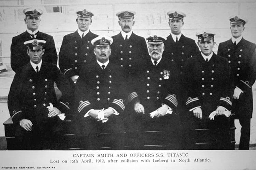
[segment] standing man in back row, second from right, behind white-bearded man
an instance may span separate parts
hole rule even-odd
[[[185,37],[181,33],[184,25],[183,18],[186,17],[186,15],[177,11],[170,11],[167,15],[169,16],[171,34],[167,37],[163,56],[169,58],[171,61],[175,61],[178,65],[179,72],[182,74],[187,58],[197,55],[200,51],[194,39]]]

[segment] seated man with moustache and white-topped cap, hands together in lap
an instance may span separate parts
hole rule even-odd
[[[119,114],[125,109],[121,68],[109,61],[113,39],[99,36],[91,40],[97,60],[82,67],[75,88],[77,133],[86,137],[87,149],[100,149],[110,143],[112,149],[124,146],[123,122]],[[100,141],[101,133],[110,133],[111,139]],[[103,143],[102,143],[103,142]]]

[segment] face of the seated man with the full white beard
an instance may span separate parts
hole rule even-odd
[[[152,60],[154,61],[159,60],[162,57],[163,51],[165,51],[165,46],[162,42],[149,42],[147,48]]]

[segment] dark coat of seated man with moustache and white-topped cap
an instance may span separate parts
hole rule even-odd
[[[123,74],[121,69],[109,62],[104,70],[95,60],[91,64],[82,67],[80,77],[75,88],[75,108],[77,109],[77,125],[80,127],[80,135],[89,135],[91,131],[102,121],[84,115],[90,109],[114,108],[122,114],[124,105]],[[123,131],[123,124],[120,115],[111,115],[103,125],[118,133]]]

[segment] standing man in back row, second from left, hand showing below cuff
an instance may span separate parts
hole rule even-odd
[[[95,59],[91,40],[98,36],[89,30],[94,14],[86,9],[77,11],[76,14],[78,29],[63,37],[59,52],[60,70],[72,80],[72,84],[76,83],[80,68]]]

